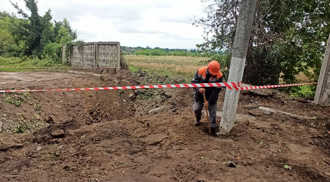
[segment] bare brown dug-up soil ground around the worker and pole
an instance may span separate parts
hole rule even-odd
[[[2,79],[0,90],[183,81],[126,71],[19,74]],[[8,97],[23,103],[7,104]],[[1,94],[0,181],[330,181],[330,106],[276,90],[244,91],[233,130],[210,137],[205,118],[193,125],[192,103],[186,88]],[[159,106],[166,108],[148,113]],[[265,115],[259,106],[312,119]]]

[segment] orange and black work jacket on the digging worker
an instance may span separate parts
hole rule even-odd
[[[222,73],[220,72],[216,77],[213,77],[209,73],[208,67],[203,67],[198,69],[195,73],[194,78],[192,78],[191,83],[218,83],[222,82]],[[199,93],[199,89],[201,87],[194,87],[195,90],[195,102],[202,102],[204,103],[204,98],[201,93]],[[219,92],[221,91],[222,87],[204,87],[205,88],[205,98],[209,102],[209,104],[215,104],[218,101]]]

